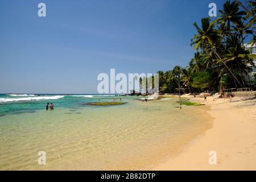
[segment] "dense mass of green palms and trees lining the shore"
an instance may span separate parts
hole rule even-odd
[[[177,93],[179,83],[181,93],[251,86],[246,85],[245,77],[255,67],[256,55],[245,49],[244,40],[249,36],[250,43],[256,44],[256,2],[246,1],[243,6],[238,3],[226,1],[216,19],[202,18],[200,26],[193,23],[197,33],[191,46],[195,54],[185,68],[175,66],[170,71],[157,72],[161,93]]]

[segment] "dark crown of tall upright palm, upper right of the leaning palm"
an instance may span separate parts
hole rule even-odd
[[[218,24],[220,24],[221,30],[227,28],[228,34],[231,34],[231,22],[239,24],[246,15],[245,11],[240,11],[239,5],[236,1],[230,2],[229,0],[224,3],[223,10],[220,10],[220,18],[217,18]]]

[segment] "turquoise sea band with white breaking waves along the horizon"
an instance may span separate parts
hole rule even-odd
[[[0,117],[6,114],[34,113],[46,108],[47,102],[59,108],[85,107],[86,102],[113,101],[119,98],[96,94],[0,94]],[[131,98],[131,99],[134,99]]]

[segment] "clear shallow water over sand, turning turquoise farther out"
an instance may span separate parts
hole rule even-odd
[[[82,104],[113,96],[67,96],[48,111],[40,109],[46,100],[0,104],[0,169],[150,169],[212,125],[206,106],[180,110],[174,98],[136,98],[101,107]],[[38,164],[39,151],[46,165]]]

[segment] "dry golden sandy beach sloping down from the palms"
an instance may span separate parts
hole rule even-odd
[[[213,127],[194,140],[175,158],[152,170],[255,170],[256,100],[247,97],[217,99],[191,98],[210,106]],[[217,164],[209,164],[209,152],[216,151]]]

